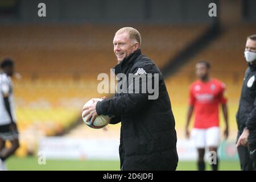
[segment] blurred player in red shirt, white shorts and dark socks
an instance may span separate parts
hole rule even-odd
[[[228,138],[229,134],[227,100],[224,97],[225,84],[215,78],[210,78],[209,71],[210,64],[207,61],[199,61],[196,64],[196,75],[199,77],[199,80],[193,82],[189,88],[189,108],[187,124],[185,126],[185,135],[189,138],[189,121],[195,110],[195,122],[191,131],[191,137],[198,151],[197,167],[200,171],[205,170],[205,147],[208,147],[209,151],[214,151],[217,154],[217,148],[220,144],[218,116],[220,104],[222,105],[226,123],[224,137]],[[213,157],[213,155],[211,156]],[[213,171],[218,169],[217,155],[215,163],[213,159],[212,169]]]

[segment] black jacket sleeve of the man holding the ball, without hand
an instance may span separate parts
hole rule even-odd
[[[143,71],[142,71],[143,69]],[[136,74],[138,73],[140,74]],[[100,101],[96,105],[97,114],[103,115],[122,115],[128,113],[135,113],[139,109],[143,107],[143,105],[148,102],[148,90],[146,92],[141,92],[143,87],[148,84],[147,74],[150,71],[146,68],[136,68],[133,72],[133,79],[131,81],[127,81],[127,85],[123,84],[125,88],[127,88],[126,93],[116,94],[115,97]],[[154,83],[154,74],[152,75],[152,79],[150,83]],[[140,79],[139,79],[140,77]],[[139,85],[139,86],[138,86]],[[138,92],[139,88],[139,92]],[[155,88],[155,85],[152,84],[152,88]]]

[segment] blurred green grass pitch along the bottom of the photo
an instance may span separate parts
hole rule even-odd
[[[9,170],[88,170],[88,171],[118,171],[119,161],[109,160],[46,160],[46,164],[39,165],[36,157],[16,158],[12,157],[6,162]],[[207,166],[210,169],[210,166]],[[196,170],[195,162],[180,161],[177,170]],[[220,162],[220,170],[240,170],[238,161],[222,161]]]

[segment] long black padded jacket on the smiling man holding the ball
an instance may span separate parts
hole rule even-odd
[[[115,115],[110,123],[121,121],[121,168],[175,170],[178,162],[175,119],[162,73],[153,61],[141,54],[140,49],[126,57],[114,69],[115,75],[125,73],[127,78],[129,73],[139,75],[140,69],[146,75],[159,74],[159,97],[156,100],[148,100],[148,92],[115,93],[113,98],[96,105],[99,115]],[[131,84],[127,84],[129,90],[130,86]]]

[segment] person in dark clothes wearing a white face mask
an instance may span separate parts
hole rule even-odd
[[[237,119],[237,151],[243,171],[256,170],[256,34],[247,37],[243,79]]]

